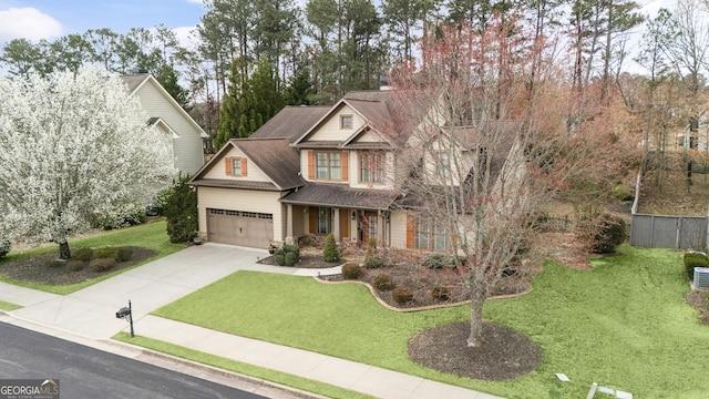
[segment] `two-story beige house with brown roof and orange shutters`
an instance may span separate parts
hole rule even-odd
[[[289,106],[249,139],[232,140],[193,177],[199,234],[265,248],[307,235],[444,250],[445,229],[407,212],[400,195],[411,134],[382,131],[392,91],[351,92],[331,108]],[[404,177],[405,178],[405,177]]]

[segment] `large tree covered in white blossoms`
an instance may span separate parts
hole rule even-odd
[[[99,69],[0,78],[0,233],[54,242],[70,258],[69,236],[92,217],[120,215],[171,181],[169,140]]]

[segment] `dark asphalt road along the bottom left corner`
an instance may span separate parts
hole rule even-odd
[[[264,398],[3,323],[0,379],[59,379],[61,399]]]

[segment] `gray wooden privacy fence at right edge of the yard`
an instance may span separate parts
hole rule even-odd
[[[703,250],[707,247],[707,217],[633,214],[630,245]]]

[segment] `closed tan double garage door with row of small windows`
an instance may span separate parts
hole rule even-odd
[[[266,248],[274,239],[274,215],[207,208],[207,232],[213,243]]]

